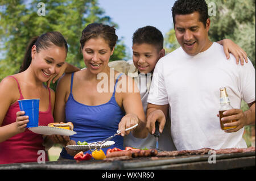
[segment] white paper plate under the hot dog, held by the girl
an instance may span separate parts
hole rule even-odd
[[[47,126],[32,127],[28,129],[34,133],[45,134],[45,135],[58,134],[61,136],[71,136],[73,134],[76,134],[76,132],[68,129],[47,127]]]

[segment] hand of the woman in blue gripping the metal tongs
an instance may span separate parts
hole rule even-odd
[[[118,129],[119,131],[121,131],[121,136],[128,135],[130,131],[133,129],[130,129],[129,131],[125,131],[125,129],[130,128],[133,125],[138,123],[139,123],[139,118],[134,113],[128,113],[127,115],[123,116],[118,125]]]

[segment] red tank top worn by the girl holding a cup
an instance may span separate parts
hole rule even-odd
[[[13,76],[10,76],[13,77]],[[13,77],[18,83],[20,99],[24,99],[20,90],[18,80]],[[49,91],[49,106],[45,112],[39,111],[38,125],[47,125],[53,123],[54,119],[51,112],[51,91]],[[16,121],[16,112],[20,111],[19,103],[16,101],[9,107],[3,119],[2,127],[14,123]],[[38,162],[38,158],[42,161],[42,153],[39,150],[45,150],[43,144],[43,137],[41,134],[31,132],[26,128],[23,133],[16,134],[6,141],[0,142],[0,164],[7,163],[25,163],[25,162]],[[39,153],[38,153],[39,151]],[[48,155],[46,153],[46,161]]]

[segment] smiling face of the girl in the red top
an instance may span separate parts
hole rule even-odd
[[[59,73],[61,66],[65,63],[67,50],[64,47],[51,45],[47,49],[36,52],[36,46],[31,49],[31,68],[36,77],[42,82],[48,81],[53,74]]]

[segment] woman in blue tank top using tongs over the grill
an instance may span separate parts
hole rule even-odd
[[[65,74],[56,89],[55,121],[71,121],[77,132],[64,145],[102,141],[119,129],[121,135],[112,139],[115,144],[110,148],[123,149],[123,136],[130,133],[125,129],[137,123],[133,135],[147,136],[141,96],[134,80],[108,66],[117,39],[115,29],[104,24],[92,23],[82,31],[80,44],[86,69]],[[107,149],[102,149],[105,154]],[[73,159],[77,152],[63,148],[60,157]]]

